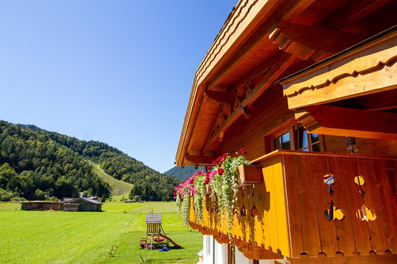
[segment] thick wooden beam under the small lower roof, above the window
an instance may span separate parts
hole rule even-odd
[[[295,118],[310,133],[397,140],[397,114],[311,105],[295,110]]]

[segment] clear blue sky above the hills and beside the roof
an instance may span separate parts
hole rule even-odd
[[[0,119],[172,168],[195,71],[237,0],[0,1]]]

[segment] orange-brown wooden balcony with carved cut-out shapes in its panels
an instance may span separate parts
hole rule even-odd
[[[249,258],[282,255],[311,263],[307,260],[325,256],[347,262],[366,256],[366,261],[395,263],[397,218],[389,177],[395,175],[396,160],[303,151],[274,151],[256,159],[252,163],[262,167],[263,178],[254,185],[254,195],[260,200],[248,199],[251,187],[239,189],[231,242]],[[191,226],[229,243],[222,236],[226,223],[209,195],[205,208],[200,223],[191,210]]]

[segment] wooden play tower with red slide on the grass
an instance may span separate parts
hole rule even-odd
[[[170,251],[170,243],[175,247],[181,247],[166,236],[162,223],[162,214],[146,214],[146,238],[139,242],[141,249],[158,249],[158,251]],[[162,232],[162,233],[161,233]]]

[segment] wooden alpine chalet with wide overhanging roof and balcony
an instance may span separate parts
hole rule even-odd
[[[195,74],[176,164],[244,146],[260,200],[239,189],[258,215],[237,212],[232,241],[191,210],[204,263],[397,263],[396,25],[397,1],[237,3]]]

